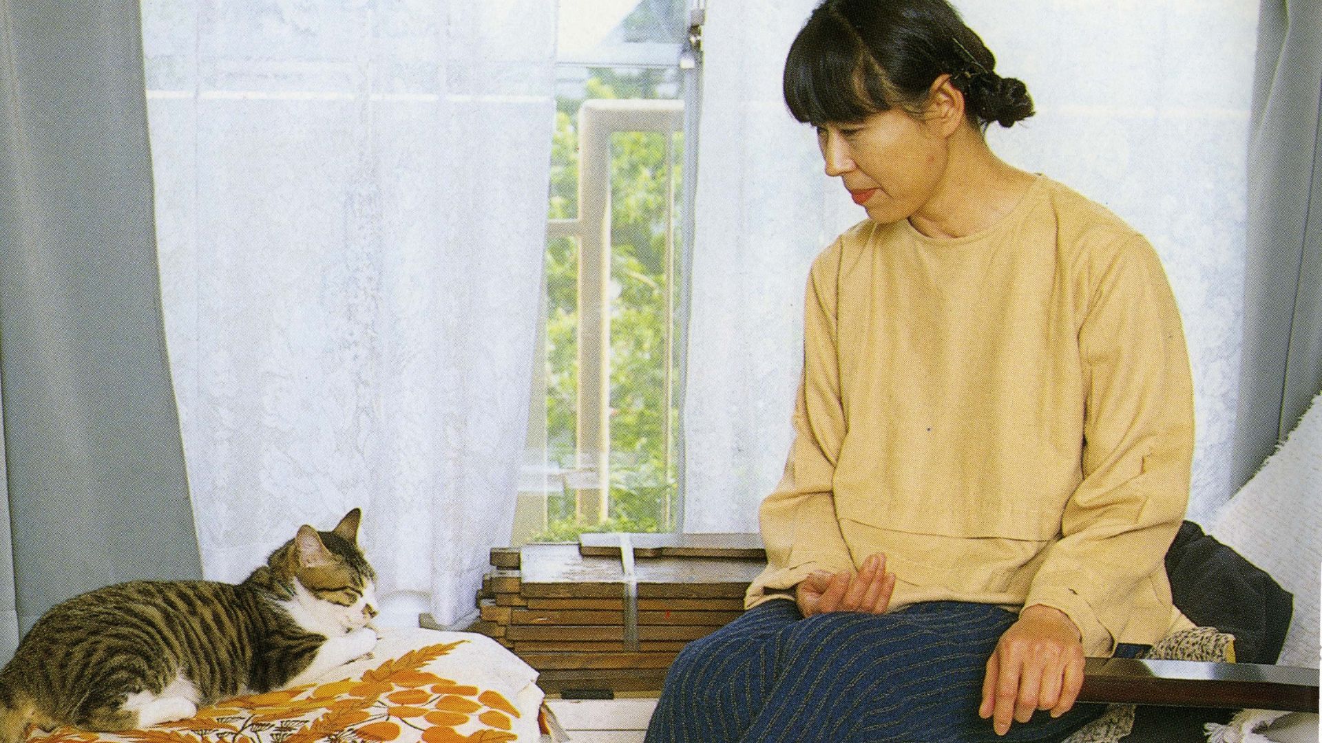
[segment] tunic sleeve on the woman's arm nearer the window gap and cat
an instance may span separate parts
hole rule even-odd
[[[845,440],[836,328],[838,245],[813,264],[804,300],[804,373],[795,405],[795,443],[785,473],[761,504],[767,570],[748,590],[751,608],[792,588],[814,570],[851,570],[832,494]]]

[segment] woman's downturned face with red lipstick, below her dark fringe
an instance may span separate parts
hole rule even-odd
[[[873,221],[890,223],[920,212],[940,185],[948,152],[939,124],[896,107],[818,126],[817,144],[826,175],[839,176]]]

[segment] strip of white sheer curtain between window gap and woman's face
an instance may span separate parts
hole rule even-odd
[[[817,0],[713,0],[703,26],[685,379],[685,531],[756,531],[785,464],[808,267],[862,218],[780,74]],[[837,193],[839,192],[839,193]]]

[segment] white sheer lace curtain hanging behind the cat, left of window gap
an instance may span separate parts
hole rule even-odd
[[[526,432],[553,0],[144,0],[208,578],[365,512],[386,620],[475,609]]]

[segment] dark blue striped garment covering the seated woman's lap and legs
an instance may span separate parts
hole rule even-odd
[[[1105,706],[1039,711],[1005,736],[978,717],[986,660],[1015,619],[957,602],[804,619],[793,602],[768,602],[685,646],[646,743],[1064,740]]]

